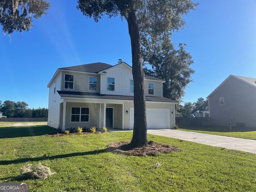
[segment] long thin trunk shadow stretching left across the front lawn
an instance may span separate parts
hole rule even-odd
[[[25,163],[25,162],[36,162],[36,161],[44,161],[44,160],[54,160],[54,159],[59,159],[59,158],[76,157],[76,156],[95,155],[95,154],[100,154],[100,153],[107,153],[110,151],[111,150],[109,150],[109,148],[106,148],[106,149],[99,149],[99,150],[85,151],[85,152],[71,153],[71,154],[62,154],[62,155],[53,155],[53,156],[45,156],[44,155],[42,157],[4,160],[4,161],[0,161],[0,165],[10,165],[10,164]]]

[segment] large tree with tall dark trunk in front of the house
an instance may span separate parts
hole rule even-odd
[[[103,15],[124,17],[128,24],[132,49],[134,80],[134,126],[131,147],[147,145],[145,74],[141,47],[143,41],[171,36],[185,24],[183,15],[196,6],[192,0],[78,0],[77,8],[98,22]]]

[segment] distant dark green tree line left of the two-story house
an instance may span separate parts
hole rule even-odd
[[[0,111],[7,117],[48,117],[48,109],[30,109],[24,101],[0,101]]]

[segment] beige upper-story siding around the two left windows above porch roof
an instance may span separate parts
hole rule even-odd
[[[74,89],[65,89],[65,74],[74,75]],[[98,77],[97,91],[89,90],[89,77]],[[62,71],[62,91],[78,91],[78,92],[93,92],[99,93],[100,90],[100,77],[97,74],[86,74],[86,73],[77,73],[73,71]]]

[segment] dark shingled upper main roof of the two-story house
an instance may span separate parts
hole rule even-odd
[[[63,68],[59,68],[59,69],[82,71],[82,72],[87,72],[87,73],[99,73],[100,71],[108,69],[110,67],[113,67],[113,66],[109,65],[107,63],[96,62],[96,63],[89,63],[89,64],[85,64],[85,65],[63,67]],[[131,67],[131,66],[129,66],[129,67]],[[159,78],[149,76],[149,75],[145,75],[145,78],[149,79],[149,80],[163,81],[163,79],[159,79]]]

